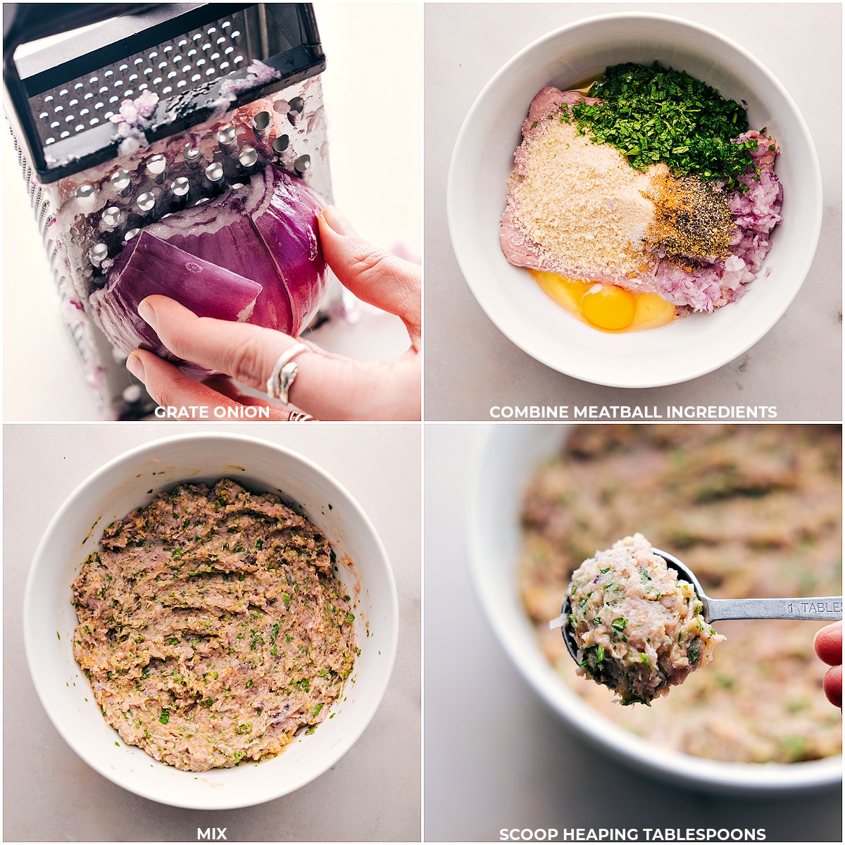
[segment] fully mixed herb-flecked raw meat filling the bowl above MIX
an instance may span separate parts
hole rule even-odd
[[[123,741],[186,771],[277,755],[355,660],[329,542],[277,495],[185,484],[106,528],[74,657]]]

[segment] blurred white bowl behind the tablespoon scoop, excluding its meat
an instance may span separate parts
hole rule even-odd
[[[704,760],[661,748],[610,722],[570,690],[537,645],[522,608],[516,566],[522,497],[537,465],[559,450],[566,426],[488,426],[472,461],[466,513],[470,570],[482,607],[515,667],[571,728],[603,752],[673,785],[712,793],[776,793],[831,787],[842,757],[789,765]]]

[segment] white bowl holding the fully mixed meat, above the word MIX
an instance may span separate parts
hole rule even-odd
[[[102,529],[178,482],[231,477],[249,488],[281,491],[301,504],[329,539],[339,577],[358,598],[361,654],[341,700],[311,734],[273,760],[195,774],[128,746],[106,724],[74,661],[76,614],[71,583]],[[150,488],[152,492],[150,493]],[[331,507],[329,507],[331,505]],[[93,527],[92,527],[93,526]],[[352,585],[360,577],[361,591]],[[70,495],[53,517],[26,584],[24,641],[35,689],[68,744],[96,771],[144,798],[194,810],[261,804],[304,786],[333,766],[363,733],[390,679],[398,636],[396,588],[384,547],[367,515],[341,485],[301,455],[264,440],[199,433],[158,440],[110,461]],[[369,623],[369,635],[364,624]],[[345,696],[345,697],[344,697]]]

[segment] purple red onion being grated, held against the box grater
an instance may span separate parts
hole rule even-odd
[[[208,371],[166,352],[139,318],[137,309],[144,297],[161,293],[199,316],[246,319],[297,335],[313,317],[328,286],[317,227],[323,205],[308,185],[270,164],[243,188],[147,226],[117,258],[106,286],[91,294],[97,323],[122,352],[149,349],[194,376]],[[150,238],[157,242],[155,248],[150,248]],[[163,256],[167,247],[177,250],[177,256],[194,256],[196,263],[208,270],[203,279],[209,281],[210,288],[201,291],[196,284],[199,279],[176,272],[187,259],[177,257],[172,265],[163,258],[153,263],[152,254]],[[139,263],[142,257],[148,264]],[[215,277],[212,267],[226,275]],[[154,271],[157,277],[144,281],[144,272]],[[188,285],[188,281],[194,284]],[[248,294],[254,306],[248,316],[239,317]]]

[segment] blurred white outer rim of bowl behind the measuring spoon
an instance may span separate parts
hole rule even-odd
[[[537,423],[538,426],[554,424]],[[509,626],[502,619],[499,593],[488,577],[489,565],[482,553],[482,515],[478,508],[480,497],[477,494],[482,467],[490,460],[490,456],[495,454],[492,447],[496,429],[510,425],[525,426],[526,423],[487,423],[484,426],[487,430],[472,444],[464,493],[467,559],[472,584],[488,624],[510,661],[543,701],[546,701],[570,728],[584,734],[586,739],[606,753],[624,760],[628,766],[641,766],[657,777],[684,783],[692,788],[708,792],[774,794],[793,789],[834,787],[841,783],[842,755],[801,763],[731,763],[664,749],[620,728],[581,701],[554,672],[545,657],[542,657],[536,644],[534,652],[537,660],[533,665],[525,662],[526,651],[509,635]]]

